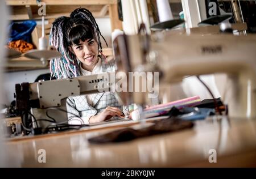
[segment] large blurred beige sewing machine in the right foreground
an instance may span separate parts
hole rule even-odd
[[[229,116],[256,116],[255,35],[118,36],[114,48],[118,71],[159,71],[160,83],[181,82],[187,75],[228,74],[233,84],[226,102]],[[126,92],[119,97],[126,104],[145,104],[143,94]]]

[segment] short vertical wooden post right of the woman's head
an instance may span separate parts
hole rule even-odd
[[[109,17],[111,20],[112,32],[114,29],[123,29],[122,21],[118,19],[117,3],[115,5],[109,5]]]

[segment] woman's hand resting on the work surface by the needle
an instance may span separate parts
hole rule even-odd
[[[96,122],[109,120],[113,116],[124,117],[125,115],[122,113],[122,111],[119,108],[108,106],[101,113],[90,117],[89,123],[96,123]]]

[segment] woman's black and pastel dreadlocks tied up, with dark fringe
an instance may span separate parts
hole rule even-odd
[[[50,45],[54,46],[62,56],[51,59],[51,76],[57,79],[77,76],[79,61],[68,47],[79,44],[80,40],[94,39],[97,41],[98,51],[101,52],[100,37],[104,39],[92,13],[86,8],[77,8],[71,12],[70,17],[61,16],[55,19],[49,36]],[[104,41],[106,42],[105,39]],[[107,43],[106,45],[108,46]]]

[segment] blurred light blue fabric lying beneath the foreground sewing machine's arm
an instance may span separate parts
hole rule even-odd
[[[181,109],[183,113],[177,117],[183,120],[204,120],[208,116],[215,114],[215,110],[211,108],[183,108]]]

